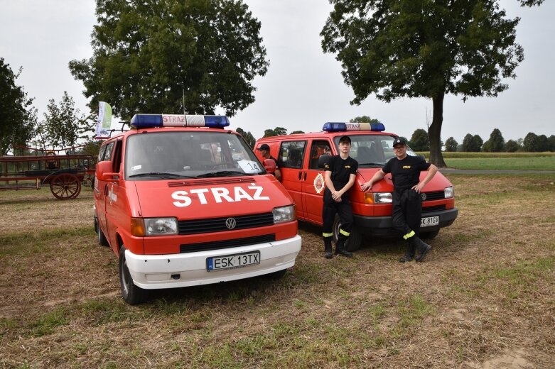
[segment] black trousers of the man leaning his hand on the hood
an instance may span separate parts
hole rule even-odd
[[[393,227],[401,236],[411,231],[419,236],[422,217],[422,198],[414,189],[394,189],[393,191]]]

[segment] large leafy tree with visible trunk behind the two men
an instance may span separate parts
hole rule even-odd
[[[523,1],[539,4],[541,1]],[[495,97],[523,60],[514,42],[519,18],[495,0],[330,0],[322,48],[337,54],[345,83],[360,104],[370,94],[392,101],[424,97],[433,103],[430,161],[441,155],[446,94]]]

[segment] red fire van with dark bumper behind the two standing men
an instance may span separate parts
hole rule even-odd
[[[355,219],[347,250],[360,247],[362,236],[393,236],[391,174],[377,182],[371,192],[362,192],[360,185],[367,182],[394,157],[393,141],[397,135],[384,132],[382,123],[325,123],[323,131],[296,135],[261,138],[255,147],[263,143],[269,145],[271,156],[277,158],[281,170],[281,184],[295,199],[297,219],[322,225],[324,172],[318,165],[322,155],[338,155],[341,136],[351,138],[350,156],[358,161],[358,175],[350,189],[350,201]],[[259,151],[256,150],[257,153]],[[407,150],[408,155],[416,155]],[[259,155],[259,154],[257,154]],[[324,158],[322,158],[324,159]],[[323,161],[320,159],[320,163]],[[421,173],[424,178],[426,172]],[[458,210],[455,207],[453,184],[438,172],[421,193],[423,202],[420,235],[421,238],[437,236],[439,229],[450,226],[455,221]],[[337,240],[340,219],[335,218],[333,237]]]

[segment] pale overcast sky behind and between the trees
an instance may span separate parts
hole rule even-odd
[[[326,121],[367,115],[382,121],[388,132],[410,138],[417,128],[427,128],[427,120],[431,123],[431,100],[386,104],[368,97],[360,106],[349,104],[353,94],[343,82],[340,63],[320,46],[319,34],[331,10],[327,0],[245,2],[262,23],[270,66],[264,77],[254,79],[256,101],[232,117],[231,128],[260,138],[265,129],[276,126],[289,132],[320,131]],[[494,128],[505,140],[524,138],[529,132],[555,134],[554,1],[532,9],[521,8],[517,0],[503,0],[500,5],[511,18],[521,18],[517,43],[524,48],[524,61],[516,69],[517,78],[508,80],[510,88],[497,98],[463,103],[460,97],[447,96],[443,141],[452,136],[462,143],[467,133],[486,141]],[[48,100],[58,103],[64,91],[88,113],[84,87],[73,79],[68,62],[92,55],[95,1],[0,0],[0,10],[0,57],[14,72],[23,67],[17,83],[35,98],[41,117]]]

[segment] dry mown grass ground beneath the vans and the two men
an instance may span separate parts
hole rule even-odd
[[[320,229],[281,280],[119,296],[92,192],[0,192],[0,367],[554,368],[553,175],[448,175],[459,217],[424,263],[372,239],[322,255]]]

